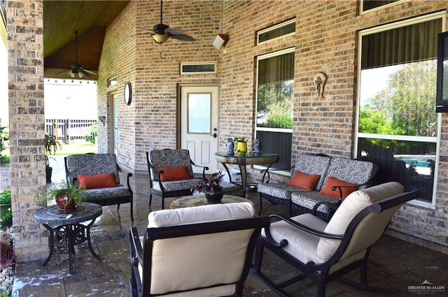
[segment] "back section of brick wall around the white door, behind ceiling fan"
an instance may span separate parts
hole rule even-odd
[[[98,115],[106,113],[106,93],[118,96],[118,161],[132,171],[147,171],[146,151],[175,148],[179,84],[219,82],[218,75],[180,75],[181,62],[219,61],[221,52],[212,43],[221,33],[221,1],[164,1],[163,22],[197,37],[195,43],[169,39],[158,45],[149,34],[134,36],[160,23],[160,1],[130,1],[109,25],[104,39],[98,80]],[[218,71],[221,67],[218,64]],[[116,87],[106,87],[107,78],[118,76]],[[126,81],[132,82],[130,106],[123,100]],[[108,119],[111,115],[108,114]],[[101,126],[101,125],[100,125]],[[106,126],[99,133],[107,136]],[[100,137],[101,138],[101,137]],[[105,140],[99,150],[107,151]]]

